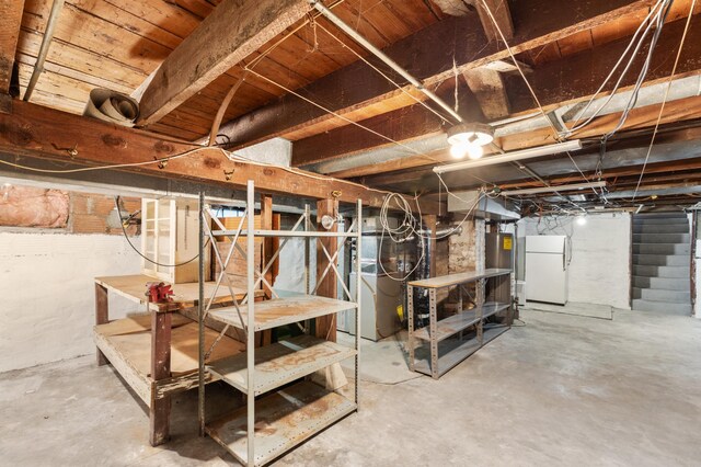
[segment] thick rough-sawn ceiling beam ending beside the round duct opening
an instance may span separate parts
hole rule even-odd
[[[309,11],[304,0],[225,0],[149,77],[139,126],[157,123]]]

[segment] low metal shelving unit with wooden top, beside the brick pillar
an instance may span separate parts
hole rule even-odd
[[[510,287],[502,287],[499,285],[504,280],[510,281],[510,269],[487,269],[481,273],[450,274],[410,282],[406,291],[409,301],[410,368],[413,372],[423,373],[438,379],[484,344],[508,330],[512,323]],[[485,301],[485,286],[490,280],[495,282],[495,286],[490,294],[490,301]],[[462,286],[473,282],[478,285],[476,306],[471,310],[462,310],[457,315],[438,320],[437,291],[458,286],[459,307],[462,308]],[[429,322],[425,328],[414,328],[414,287],[428,291]],[[505,326],[484,328],[486,318],[503,311],[507,312]],[[467,331],[470,328],[474,328],[474,330]],[[418,352],[416,350],[417,341],[422,344]],[[428,349],[426,349],[426,345]]]

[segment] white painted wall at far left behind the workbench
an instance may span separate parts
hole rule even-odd
[[[94,352],[93,278],[139,271],[122,236],[0,231],[0,372]],[[128,311],[111,294],[110,317]]]

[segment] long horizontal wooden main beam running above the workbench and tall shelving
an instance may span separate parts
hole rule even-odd
[[[23,101],[14,101],[10,113],[0,113],[0,153],[36,157],[85,166],[142,163],[202,148],[186,141],[111,125],[97,119],[72,115]],[[60,168],[57,168],[60,170]],[[278,167],[232,161],[220,149],[204,148],[192,156],[165,163],[118,168],[162,178],[177,178],[242,190],[249,180],[263,193],[294,194],[344,203],[363,200],[379,207],[384,193],[343,180]],[[410,200],[411,201],[411,200]],[[413,204],[413,201],[412,201]],[[437,203],[423,203],[422,210],[437,213]]]

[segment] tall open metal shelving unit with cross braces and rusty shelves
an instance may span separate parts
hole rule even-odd
[[[325,315],[355,310],[356,326],[360,326],[360,284],[357,286],[358,301],[346,301],[313,295],[319,284],[331,271],[341,281],[344,298],[352,299],[350,292],[340,276],[335,264],[338,255],[331,255],[323,243],[322,252],[329,260],[329,267],[318,278],[317,287],[310,289],[307,281],[307,295],[280,297],[265,280],[266,272],[272,267],[280,250],[291,237],[302,237],[308,240],[319,237],[337,239],[353,238],[360,248],[361,242],[361,202],[357,201],[357,214],[354,223],[345,232],[312,231],[309,208],[300,216],[291,230],[262,230],[254,228],[254,185],[249,181],[246,187],[246,207],[237,229],[228,230],[221,223],[200,207],[202,235],[200,255],[204,258],[204,238],[207,237],[215,246],[216,261],[220,265],[220,273],[216,287],[225,286],[234,291],[227,274],[227,265],[234,251],[246,259],[246,297],[237,300],[232,295],[232,306],[211,308],[212,300],[200,291],[199,324],[204,327],[205,318],[220,321],[225,324],[221,335],[230,328],[242,330],[245,334],[246,352],[207,365],[207,356],[211,349],[204,349],[200,341],[199,374],[199,423],[200,432],[206,432],[215,441],[229,451],[239,462],[248,466],[265,465],[296,445],[302,443],[319,431],[341,420],[357,410],[358,407],[358,360],[359,335],[356,335],[355,346],[348,348],[309,335],[310,326],[301,326],[306,333],[280,342],[255,348],[254,334],[257,331],[279,326],[300,323]],[[200,197],[200,203],[204,201]],[[218,230],[210,228],[214,221]],[[244,225],[245,223],[245,225]],[[298,230],[299,227],[302,230]],[[244,228],[245,227],[245,228]],[[252,234],[252,235],[249,235]],[[216,248],[217,237],[230,239],[231,246],[223,258]],[[239,239],[245,237],[245,250],[239,244]],[[283,237],[279,248],[263,267],[255,270],[255,237]],[[308,250],[309,241],[306,242]],[[309,254],[307,251],[306,271],[309,277]],[[359,267],[359,255],[357,266]],[[200,267],[202,269],[202,267]],[[264,301],[249,299],[254,297],[261,285],[272,291],[273,298]],[[215,343],[216,345],[216,343]],[[212,345],[214,348],[214,345]],[[302,380],[314,372],[346,358],[355,358],[355,391],[353,400],[323,387]],[[204,381],[210,373],[233,388],[246,395],[246,406],[242,407],[216,421],[205,424],[205,392]],[[308,378],[307,378],[308,379]],[[294,383],[301,380],[298,383]],[[294,383],[294,384],[292,384]],[[290,385],[291,384],[291,385]],[[276,390],[276,391],[275,391]],[[275,392],[273,392],[275,391]],[[256,399],[257,396],[261,396]],[[254,429],[255,426],[255,429]],[[263,426],[263,428],[261,428]]]

